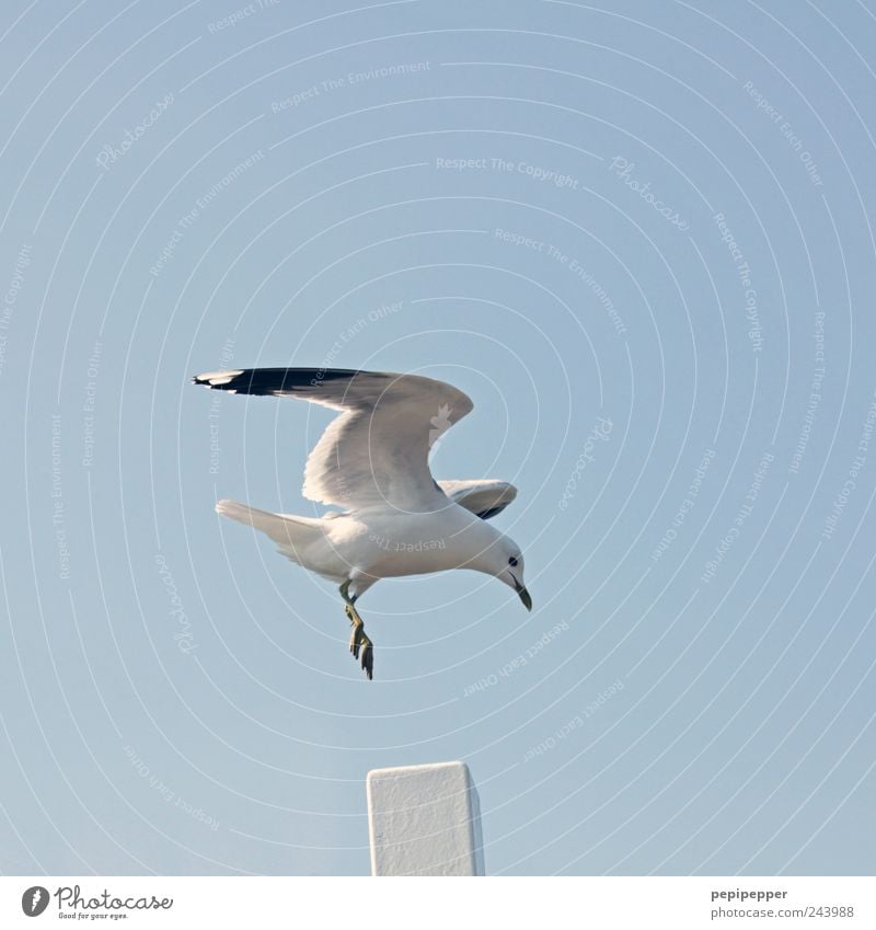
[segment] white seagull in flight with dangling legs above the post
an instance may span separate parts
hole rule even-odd
[[[419,375],[341,368],[208,371],[196,384],[231,394],[298,398],[339,411],[308,457],[302,494],[342,507],[321,518],[219,501],[223,517],[266,533],[289,560],[339,585],[349,648],[368,679],[373,643],[356,608],[382,578],[471,569],[514,588],[527,610],[523,556],[486,523],[517,496],[506,481],[436,481],[429,451],[474,404]]]

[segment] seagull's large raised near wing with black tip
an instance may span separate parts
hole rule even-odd
[[[238,394],[300,398],[341,411],[313,448],[302,493],[348,509],[440,506],[429,447],[473,407],[451,384],[418,375],[339,368],[250,368],[193,379]]]

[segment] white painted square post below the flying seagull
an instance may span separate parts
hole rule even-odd
[[[464,762],[368,772],[372,875],[483,875],[477,790]]]

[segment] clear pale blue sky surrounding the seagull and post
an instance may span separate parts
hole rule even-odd
[[[463,759],[493,874],[872,874],[876,5],[5,5],[0,870],[367,874]],[[8,28],[7,28],[8,27]],[[221,523],[452,381],[535,604],[360,606]]]

